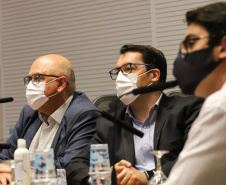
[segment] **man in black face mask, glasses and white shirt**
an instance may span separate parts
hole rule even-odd
[[[226,2],[187,12],[174,63],[183,92],[206,97],[164,185],[226,184]]]

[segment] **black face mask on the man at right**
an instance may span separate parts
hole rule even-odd
[[[212,53],[213,47],[209,47],[175,59],[173,74],[183,93],[193,95],[198,84],[220,64]]]

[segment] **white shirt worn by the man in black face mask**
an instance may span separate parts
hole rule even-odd
[[[226,184],[226,82],[204,102],[164,185]]]

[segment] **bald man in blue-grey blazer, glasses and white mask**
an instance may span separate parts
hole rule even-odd
[[[96,109],[84,93],[75,91],[73,67],[63,56],[50,54],[36,59],[24,78],[24,85],[28,105],[22,109],[7,141],[12,147],[2,151],[1,160],[13,159],[18,138],[26,140],[32,153],[35,149],[55,148],[81,112]],[[57,168],[64,168],[87,146],[98,117],[99,113],[89,112],[77,120],[73,132],[61,143],[55,156]],[[4,172],[1,169],[0,165],[0,172]],[[0,173],[0,182],[4,184],[6,180],[10,181],[10,175]]]

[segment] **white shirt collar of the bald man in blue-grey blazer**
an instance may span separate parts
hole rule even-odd
[[[71,95],[63,105],[61,105],[54,113],[52,113],[49,117],[45,114],[39,112],[39,118],[42,122],[50,124],[52,122],[60,123],[64,117],[64,113],[66,112],[68,106],[71,103],[73,95]]]

